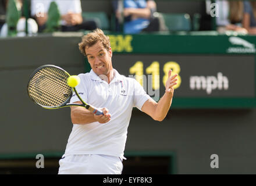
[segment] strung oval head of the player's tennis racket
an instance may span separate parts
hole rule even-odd
[[[68,74],[55,67],[37,71],[29,85],[31,98],[42,106],[63,105],[72,94],[72,89],[66,83],[68,77]]]

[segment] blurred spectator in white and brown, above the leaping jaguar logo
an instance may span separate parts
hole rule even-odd
[[[216,26],[219,33],[227,30],[247,34],[248,31],[242,26],[244,6],[243,1],[216,1],[219,7]]]

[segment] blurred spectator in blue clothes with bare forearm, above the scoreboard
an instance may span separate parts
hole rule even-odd
[[[154,0],[123,0],[123,8],[118,6],[120,1],[113,1],[116,17],[124,17],[123,32],[137,34],[142,31],[159,31],[159,20],[154,17],[157,4]]]

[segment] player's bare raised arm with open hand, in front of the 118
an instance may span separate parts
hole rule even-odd
[[[165,94],[162,96],[158,103],[150,98],[142,106],[141,110],[147,115],[151,116],[152,119],[157,121],[162,121],[163,119],[165,119],[165,116],[170,109],[170,105],[172,105],[172,98],[174,92],[173,86],[177,84],[176,77],[177,74],[172,76],[172,70],[169,70],[168,80],[165,84]]]

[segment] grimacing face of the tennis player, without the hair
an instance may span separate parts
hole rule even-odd
[[[86,47],[86,55],[91,68],[98,76],[102,74],[107,76],[113,69],[111,48],[107,51],[100,41],[91,47]]]

